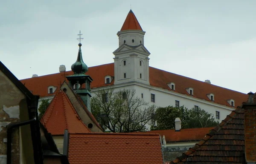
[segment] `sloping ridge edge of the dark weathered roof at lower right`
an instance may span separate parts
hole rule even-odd
[[[218,133],[222,127],[224,127],[227,123],[233,120],[233,118],[242,110],[241,106],[237,107],[236,110],[233,110],[227,117],[221,121],[220,124],[218,124],[214,129],[210,131],[210,133],[207,133],[201,141],[199,141],[197,144],[195,144],[194,147],[190,147],[189,150],[187,150],[185,153],[182,153],[181,156],[178,156],[175,160],[171,161],[170,164],[178,164],[179,162],[186,161],[186,158],[188,158],[192,153],[194,153],[201,145],[203,145],[206,141],[208,141],[212,136],[215,135],[215,133]]]

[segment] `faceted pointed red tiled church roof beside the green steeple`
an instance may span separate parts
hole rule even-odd
[[[52,135],[63,135],[67,129],[69,133],[88,133],[90,130],[81,121],[70,99],[60,90],[41,119],[42,124]]]

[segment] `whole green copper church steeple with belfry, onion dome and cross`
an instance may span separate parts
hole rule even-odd
[[[67,76],[69,81],[69,85],[73,90],[78,94],[81,99],[83,100],[84,104],[86,105],[87,109],[90,110],[90,83],[93,79],[86,75],[85,73],[88,71],[87,65],[84,63],[82,58],[82,51],[81,51],[81,31],[79,35],[79,50],[76,62],[71,66],[71,70],[74,72],[73,75]]]

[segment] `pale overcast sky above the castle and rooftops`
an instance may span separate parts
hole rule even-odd
[[[256,0],[2,0],[0,60],[18,79],[70,70],[81,30],[88,67],[111,63],[130,4],[150,66],[256,91]]]

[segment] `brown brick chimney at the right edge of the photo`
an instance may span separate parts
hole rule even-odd
[[[248,163],[256,163],[256,102],[255,94],[248,93],[248,102],[243,104],[244,108],[244,153]]]

